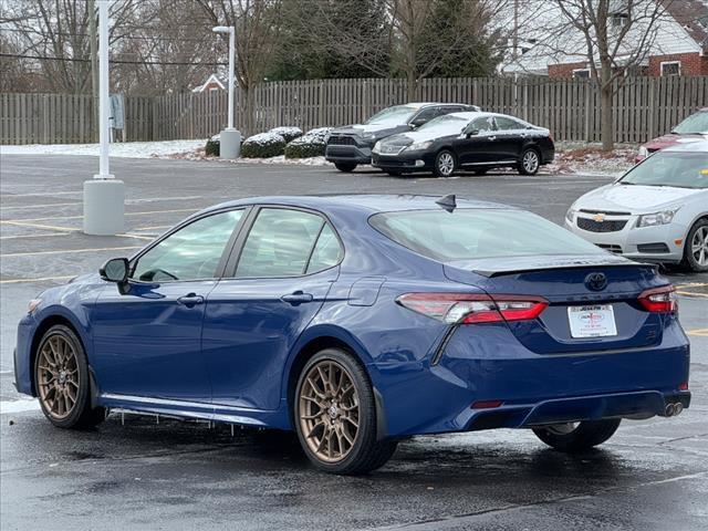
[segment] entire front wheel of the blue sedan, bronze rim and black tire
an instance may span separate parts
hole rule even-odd
[[[44,416],[60,428],[91,428],[105,419],[91,407],[88,364],[81,341],[63,324],[50,327],[34,356],[34,387]]]

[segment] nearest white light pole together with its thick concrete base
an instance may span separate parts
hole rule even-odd
[[[108,2],[98,0],[98,174],[84,181],[84,232],[101,236],[123,232],[125,226],[125,185],[108,166]]]

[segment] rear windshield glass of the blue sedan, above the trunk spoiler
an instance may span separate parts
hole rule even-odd
[[[442,262],[605,251],[523,210],[456,209],[376,214],[371,225],[392,240]]]

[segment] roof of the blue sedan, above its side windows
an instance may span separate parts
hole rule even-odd
[[[272,205],[285,207],[312,208],[325,214],[334,214],[339,210],[361,210],[366,215],[377,212],[392,212],[405,210],[436,210],[442,208],[435,201],[442,196],[421,195],[374,195],[374,194],[343,194],[343,195],[321,195],[321,196],[263,196],[237,199],[208,207],[201,212],[218,210],[229,207],[249,205]],[[456,198],[458,208],[476,209],[513,209],[508,205],[499,202],[482,201],[478,199]]]

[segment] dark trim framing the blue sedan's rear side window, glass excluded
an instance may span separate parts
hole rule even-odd
[[[324,221],[322,223],[322,227],[320,228],[320,232],[317,232],[317,238],[315,238],[315,240],[314,240],[314,242],[312,244],[312,249],[310,249],[310,253],[308,256],[308,262],[305,263],[305,269],[304,269],[305,272],[303,272],[301,274],[289,274],[289,275],[279,275],[279,277],[236,277],[236,271],[238,269],[239,261],[241,260],[241,253],[243,252],[243,247],[246,244],[246,240],[248,239],[249,235],[251,233],[251,230],[253,229],[253,223],[256,222],[256,219],[258,218],[259,212],[261,210],[263,210],[263,209],[296,210],[296,211],[301,211],[301,212],[306,212],[306,214],[312,214],[314,216],[319,216]],[[320,271],[314,271],[312,273],[308,273],[306,271],[308,271],[308,267],[310,267],[310,260],[312,259],[312,253],[314,252],[314,248],[317,244],[317,239],[320,238],[320,235],[322,233],[322,230],[324,229],[325,225],[330,226],[330,229],[332,229],[332,232],[334,233],[335,238],[337,239],[337,243],[340,244],[340,250],[341,250],[340,260],[334,266],[331,266],[331,267],[329,267],[326,269],[321,269]],[[221,275],[221,280],[300,279],[300,278],[304,278],[304,277],[311,277],[313,274],[322,273],[324,271],[329,271],[329,270],[331,270],[333,268],[339,267],[342,263],[342,261],[344,260],[345,254],[346,254],[346,248],[344,247],[344,242],[342,241],[342,238],[340,237],[340,233],[337,232],[336,228],[334,227],[334,223],[332,223],[330,218],[324,212],[322,212],[320,210],[315,210],[313,208],[298,207],[298,206],[293,206],[293,205],[280,205],[280,204],[253,205],[252,206],[252,210],[248,215],[248,222],[243,225],[241,233],[239,233],[239,237],[235,241],[233,249],[229,253],[229,258],[228,258],[228,261],[226,263],[226,267],[225,267],[225,270],[223,270],[223,274]]]

